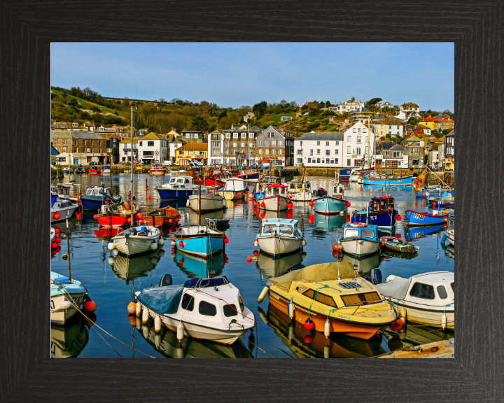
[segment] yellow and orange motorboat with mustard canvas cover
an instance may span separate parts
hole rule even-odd
[[[314,264],[270,278],[258,302],[269,303],[307,328],[370,339],[397,319],[377,288],[360,277],[349,262]]]

